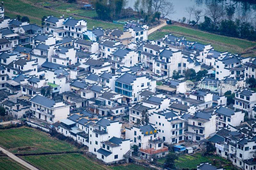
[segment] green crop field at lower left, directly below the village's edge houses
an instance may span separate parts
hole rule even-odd
[[[30,146],[33,150],[26,152],[61,152],[74,151],[76,148],[66,142],[50,137],[49,134],[33,128],[22,127],[0,130],[0,145],[12,153],[19,148]]]

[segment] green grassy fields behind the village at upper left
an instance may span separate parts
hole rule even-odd
[[[118,27],[123,30],[122,24],[113,24],[111,22],[86,18],[95,17],[95,11],[84,11],[78,8],[77,4],[67,4],[62,1],[50,1],[49,4],[47,4],[43,0],[8,0],[5,2],[4,7],[6,16],[11,18],[15,18],[17,15],[20,15],[21,17],[28,16],[30,23],[36,23],[39,26],[41,26],[41,18],[44,15],[53,15],[59,18],[64,14],[65,17],[72,16],[75,19],[85,19],[87,21],[88,29],[92,29],[92,26],[99,26],[103,29]]]

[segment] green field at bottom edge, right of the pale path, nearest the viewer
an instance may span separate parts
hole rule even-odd
[[[100,166],[97,163],[90,161],[88,158],[78,153],[23,156],[22,159],[30,162],[32,165],[39,167],[42,170],[106,169],[103,166]]]

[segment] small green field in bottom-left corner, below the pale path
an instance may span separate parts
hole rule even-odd
[[[0,156],[0,169],[1,170],[23,170],[28,169],[20,163],[14,161],[13,159],[7,156]]]

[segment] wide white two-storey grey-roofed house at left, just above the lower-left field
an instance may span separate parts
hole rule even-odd
[[[55,123],[69,115],[69,105],[63,101],[55,102],[40,95],[36,95],[29,101],[31,102],[30,110],[38,119]]]

